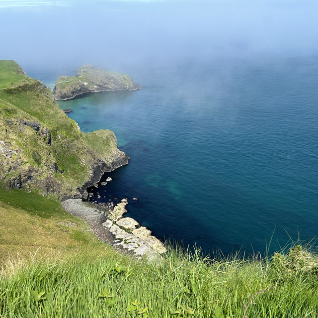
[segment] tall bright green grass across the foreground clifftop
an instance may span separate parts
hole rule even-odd
[[[308,265],[311,264],[311,265]],[[316,317],[317,256],[208,260],[169,250],[159,263],[83,250],[8,262],[0,317]]]

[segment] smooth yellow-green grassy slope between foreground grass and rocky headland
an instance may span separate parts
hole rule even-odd
[[[64,211],[58,200],[0,187],[0,263],[9,255],[29,257],[38,249],[45,255],[87,247],[115,253],[98,241],[86,222]]]

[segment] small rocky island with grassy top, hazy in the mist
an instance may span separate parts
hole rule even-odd
[[[78,70],[76,76],[60,76],[55,83],[53,95],[55,100],[65,101],[87,93],[133,91],[140,88],[126,74],[86,65]]]

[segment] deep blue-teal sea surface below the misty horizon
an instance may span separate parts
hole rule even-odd
[[[265,252],[273,235],[272,252],[317,236],[317,56],[119,71],[143,88],[58,101],[82,131],[114,131],[131,156],[94,200],[128,198],[126,216],[206,253]],[[57,78],[28,73],[51,87]]]

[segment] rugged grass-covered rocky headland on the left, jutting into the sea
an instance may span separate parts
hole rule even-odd
[[[110,130],[80,131],[52,92],[14,61],[0,61],[0,182],[60,199],[82,197],[106,171],[128,164]]]

